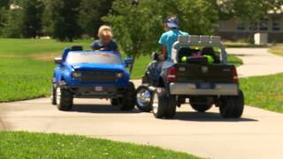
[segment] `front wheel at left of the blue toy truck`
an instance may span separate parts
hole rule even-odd
[[[57,109],[58,110],[72,110],[73,107],[73,93],[65,88],[57,87]]]

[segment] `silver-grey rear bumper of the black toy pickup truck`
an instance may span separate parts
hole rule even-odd
[[[205,86],[205,85],[204,85]],[[238,95],[237,84],[211,84],[205,87],[195,83],[171,83],[171,95]]]

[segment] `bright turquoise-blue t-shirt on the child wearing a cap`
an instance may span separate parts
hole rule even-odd
[[[180,35],[189,35],[187,34],[186,32],[182,32],[178,29],[173,29],[173,30],[170,30],[164,34],[161,35],[158,43],[161,45],[161,46],[165,46],[166,49],[167,49],[167,57],[168,59],[171,58],[172,56],[172,45],[178,41],[178,36]]]

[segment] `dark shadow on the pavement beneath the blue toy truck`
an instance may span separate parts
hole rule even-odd
[[[75,104],[71,111],[83,112],[83,113],[118,113],[118,114],[133,114],[141,113],[139,110],[120,110],[119,107],[114,107],[107,104]]]

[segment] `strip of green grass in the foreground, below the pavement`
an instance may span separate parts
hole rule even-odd
[[[0,158],[199,158],[194,155],[82,136],[0,132]]]

